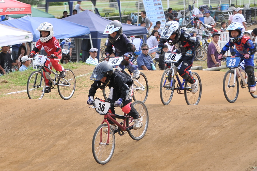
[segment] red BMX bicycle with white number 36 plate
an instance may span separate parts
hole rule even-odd
[[[131,104],[132,106],[134,106],[136,111],[138,111],[139,115],[143,118],[142,127],[137,130],[133,130],[134,118],[132,118],[131,116],[125,113],[124,115],[109,113],[108,111],[111,108],[111,105],[113,104],[111,104],[107,100],[95,98],[93,106],[90,106],[92,108],[95,108],[95,111],[97,113],[104,116],[103,122],[95,130],[92,140],[93,156],[95,158],[95,161],[99,164],[106,164],[111,160],[115,149],[115,133],[118,132],[120,136],[123,136],[128,132],[128,135],[133,140],[140,140],[144,137],[148,128],[148,111],[143,102],[137,100]],[[112,117],[121,119],[123,121],[119,123]],[[113,131],[113,128],[110,127],[107,118],[118,126],[117,130]],[[103,132],[103,130],[106,129],[108,130]]]

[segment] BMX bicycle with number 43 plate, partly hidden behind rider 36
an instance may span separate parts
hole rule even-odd
[[[111,65],[113,66],[113,68],[115,68],[115,70],[125,73],[126,75],[131,77],[132,72],[130,70],[128,70],[130,72],[130,74],[128,74],[119,67],[119,65],[121,64],[121,62],[123,60],[124,60],[123,56],[110,57],[109,63],[111,63]],[[133,96],[132,96],[133,100],[134,101],[140,100],[144,103],[147,99],[148,91],[149,91],[149,86],[148,86],[147,78],[144,75],[144,73],[140,72],[139,77],[136,79],[133,79]],[[107,100],[109,93],[110,93],[109,87],[103,89],[103,96],[104,96],[105,100]]]

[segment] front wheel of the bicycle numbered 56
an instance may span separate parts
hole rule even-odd
[[[171,87],[167,85],[168,83],[171,83],[171,80],[168,81],[167,75],[172,75],[172,72],[174,72],[172,69],[166,69],[161,77],[160,80],[160,99],[163,105],[168,105],[173,97],[174,94],[174,88],[175,88],[175,79],[174,77],[172,78],[172,85]],[[165,83],[165,84],[164,84]]]

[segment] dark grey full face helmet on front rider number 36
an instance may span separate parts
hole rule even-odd
[[[97,85],[98,88],[103,90],[111,82],[112,75],[113,75],[113,66],[109,62],[103,61],[95,67],[90,79],[93,81],[100,81],[103,77],[107,77],[105,83],[103,83],[102,85]]]

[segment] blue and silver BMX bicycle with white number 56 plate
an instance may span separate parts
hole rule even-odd
[[[160,81],[160,99],[162,101],[162,104],[164,105],[168,105],[170,103],[174,94],[174,90],[176,90],[178,94],[184,93],[185,100],[188,105],[197,105],[200,101],[202,95],[202,81],[198,73],[191,72],[192,77],[198,80],[198,91],[195,94],[192,93],[192,88],[190,84],[188,84],[187,81],[184,79],[181,82],[178,77],[178,68],[174,64],[178,63],[181,57],[181,54],[174,52],[165,53],[164,55],[164,61],[166,63],[171,63],[170,68],[166,69],[163,72]],[[178,81],[177,85],[175,85],[176,81],[174,79],[174,76],[176,76],[176,79]],[[184,92],[182,92],[182,90],[184,90]]]

